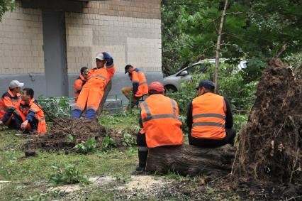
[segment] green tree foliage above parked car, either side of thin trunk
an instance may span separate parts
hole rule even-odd
[[[214,58],[224,1],[162,1],[163,67],[167,74],[201,57]],[[302,1],[229,1],[220,57],[245,58],[259,75],[267,58],[302,52]],[[250,72],[252,73],[252,72]],[[255,76],[257,77],[257,76]],[[252,80],[255,77],[251,77]]]

